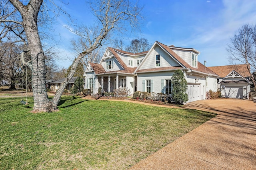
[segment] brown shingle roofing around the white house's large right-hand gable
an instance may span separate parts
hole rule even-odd
[[[179,63],[180,66],[148,68],[148,69],[143,69],[143,70],[140,70],[140,68],[137,68],[137,70],[135,71],[136,73],[187,68],[187,69],[190,69],[192,72],[195,71],[195,72],[201,72],[203,74],[208,74],[208,75],[212,75],[212,76],[218,76],[218,74],[216,74],[215,72],[213,72],[212,70],[210,70],[209,68],[207,68],[206,66],[201,64],[200,62],[198,62],[197,68],[190,66],[190,64],[186,63],[186,61],[184,61],[180,56],[178,56],[174,51],[172,51],[171,48],[174,48],[174,46],[170,47],[170,46],[164,45],[158,41],[156,41],[155,44],[159,45],[162,49],[164,49],[164,51],[166,51],[166,53],[168,53],[170,55],[170,57],[172,57],[177,63]],[[177,48],[180,48],[180,47],[177,47]],[[197,51],[197,52],[199,53],[199,51]],[[145,59],[144,59],[144,61],[145,61]]]

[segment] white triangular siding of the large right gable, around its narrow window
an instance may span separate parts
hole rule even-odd
[[[161,49],[159,46],[156,46],[140,69],[159,67],[156,66],[156,55],[158,54],[160,55],[160,67],[180,65],[174,59],[172,59],[163,49]]]

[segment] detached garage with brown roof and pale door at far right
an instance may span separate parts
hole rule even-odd
[[[250,73],[246,64],[212,66],[218,77],[218,89],[224,98],[249,98],[251,89]]]

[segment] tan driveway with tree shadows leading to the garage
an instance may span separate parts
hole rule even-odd
[[[130,170],[256,170],[256,103],[218,99],[189,106],[218,115]]]

